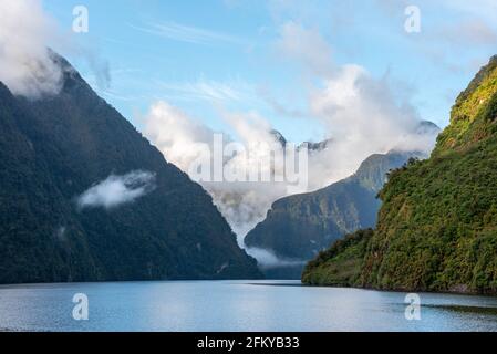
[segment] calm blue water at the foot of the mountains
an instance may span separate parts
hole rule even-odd
[[[89,321],[72,317],[75,293]],[[8,331],[497,331],[497,298],[307,288],[298,281],[185,281],[0,287]]]

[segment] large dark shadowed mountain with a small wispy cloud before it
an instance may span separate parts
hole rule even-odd
[[[53,60],[54,96],[0,83],[0,283],[260,278],[207,192]]]

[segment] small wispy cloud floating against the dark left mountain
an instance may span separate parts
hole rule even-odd
[[[155,188],[155,174],[134,170],[123,176],[111,175],[77,197],[77,206],[112,209],[130,204]]]

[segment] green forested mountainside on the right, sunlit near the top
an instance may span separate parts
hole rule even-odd
[[[459,94],[427,160],[391,174],[375,230],[310,262],[308,284],[497,293],[497,56]]]

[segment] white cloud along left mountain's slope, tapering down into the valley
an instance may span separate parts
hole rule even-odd
[[[260,170],[259,163],[271,155],[268,147],[278,145],[271,125],[256,113],[220,112],[234,136],[217,133],[166,102],[155,103],[145,117],[144,133],[166,159],[200,183],[213,196],[214,202],[227,218],[242,243],[245,235],[265,218],[272,201],[287,195],[284,184],[276,183],[216,183],[198,180],[190,168],[195,162],[207,159],[210,166],[214,135],[221,134],[224,144],[241,143],[250,156],[222,157],[222,166],[247,174]],[[282,148],[282,147],[280,147]]]

